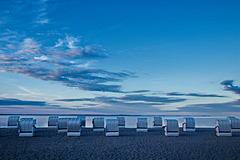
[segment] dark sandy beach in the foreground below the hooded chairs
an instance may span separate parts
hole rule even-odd
[[[121,129],[120,137],[105,137],[84,129],[82,134],[37,129],[36,137],[19,138],[16,129],[0,129],[0,159],[240,159],[240,133],[216,137],[214,129],[197,129],[165,137],[163,129]]]

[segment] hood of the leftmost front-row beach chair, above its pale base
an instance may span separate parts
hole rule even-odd
[[[33,118],[21,118],[20,120],[20,132],[32,132],[36,121]]]

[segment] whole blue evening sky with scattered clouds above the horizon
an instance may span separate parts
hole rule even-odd
[[[240,115],[240,1],[0,1],[1,114]]]

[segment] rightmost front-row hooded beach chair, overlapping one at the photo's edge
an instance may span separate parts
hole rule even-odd
[[[228,120],[216,120],[216,136],[232,136],[231,123]]]

